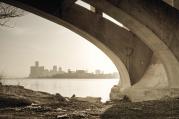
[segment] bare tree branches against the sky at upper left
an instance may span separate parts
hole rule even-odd
[[[0,26],[8,26],[10,18],[24,15],[24,10],[0,2]]]

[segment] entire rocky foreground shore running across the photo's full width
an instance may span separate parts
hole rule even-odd
[[[121,101],[101,103],[97,98],[65,98],[0,85],[0,119],[178,119],[179,99]],[[93,101],[90,101],[93,100]]]

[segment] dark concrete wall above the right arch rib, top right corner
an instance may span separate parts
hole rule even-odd
[[[118,3],[115,0],[110,1],[155,33],[179,59],[178,10],[161,0],[120,0]]]

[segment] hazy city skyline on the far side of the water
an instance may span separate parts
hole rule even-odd
[[[84,69],[76,69],[64,71],[62,67],[53,65],[52,69],[47,69],[43,65],[40,65],[39,61],[35,61],[35,64],[30,67],[30,73],[27,78],[80,78],[80,79],[111,79],[118,78],[118,73],[104,73],[103,71],[96,69],[93,72],[88,72]]]

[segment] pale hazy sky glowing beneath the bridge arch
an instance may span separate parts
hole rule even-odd
[[[30,13],[10,23],[14,28],[0,27],[0,72],[6,76],[28,76],[35,61],[47,69],[117,71],[101,50],[63,26]]]

